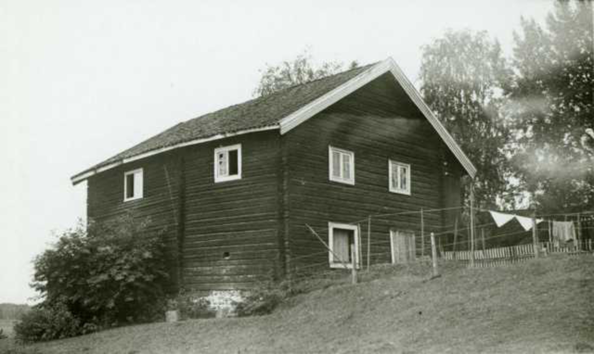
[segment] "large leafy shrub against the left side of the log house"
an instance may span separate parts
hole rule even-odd
[[[148,220],[135,222],[126,215],[63,232],[34,261],[32,286],[43,302],[20,330],[24,333],[33,319],[51,317],[48,311],[57,306],[86,329],[150,321],[162,314],[168,280],[165,241],[163,232],[149,231],[148,225]],[[51,333],[36,338],[56,338]]]

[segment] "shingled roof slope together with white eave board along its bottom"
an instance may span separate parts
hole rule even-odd
[[[178,121],[169,129],[72,176],[72,183],[77,184],[94,174],[147,157],[150,155],[149,152],[153,152],[154,155],[169,151],[176,146],[194,145],[241,133],[271,129],[280,129],[282,133],[282,119],[323,100],[325,95],[333,93],[341,85],[345,85],[353,79],[355,79],[353,84],[355,86],[360,82],[365,82],[366,79],[374,77],[375,72],[386,69],[383,65],[385,62],[386,60],[382,60],[349,68],[336,74],[291,85],[268,95],[261,95],[242,103],[207,111],[200,116]],[[340,90],[338,95],[347,91]],[[336,96],[336,94],[334,95]]]

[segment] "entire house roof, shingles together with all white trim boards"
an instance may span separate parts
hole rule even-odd
[[[405,90],[412,102],[435,128],[437,134],[441,136],[469,176],[474,177],[476,168],[472,162],[425,104],[421,94],[406,78],[394,59],[387,58],[382,62],[340,72],[307,84],[285,88],[265,97],[258,97],[179,123],[165,132],[72,176],[71,181],[77,184],[119,164],[230,135],[268,129],[279,129],[280,134],[283,135],[386,72],[391,73],[396,83]]]

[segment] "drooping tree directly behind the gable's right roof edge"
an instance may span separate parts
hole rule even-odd
[[[510,140],[500,109],[511,71],[500,44],[486,32],[447,31],[422,47],[425,102],[477,168],[479,205],[495,205],[506,189]]]

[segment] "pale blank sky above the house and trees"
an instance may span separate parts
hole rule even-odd
[[[248,5],[249,4],[249,5]],[[520,15],[551,1],[0,0],[0,302],[25,302],[31,260],[86,213],[69,177],[151,135],[251,98],[265,63],[392,56],[487,30],[507,55]]]

